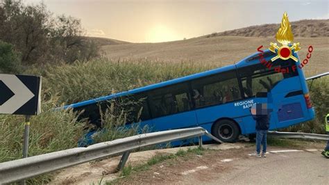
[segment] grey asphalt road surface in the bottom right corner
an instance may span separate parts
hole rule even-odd
[[[329,184],[329,159],[319,151],[274,151],[266,159],[254,158],[230,161],[234,170],[205,184]]]

